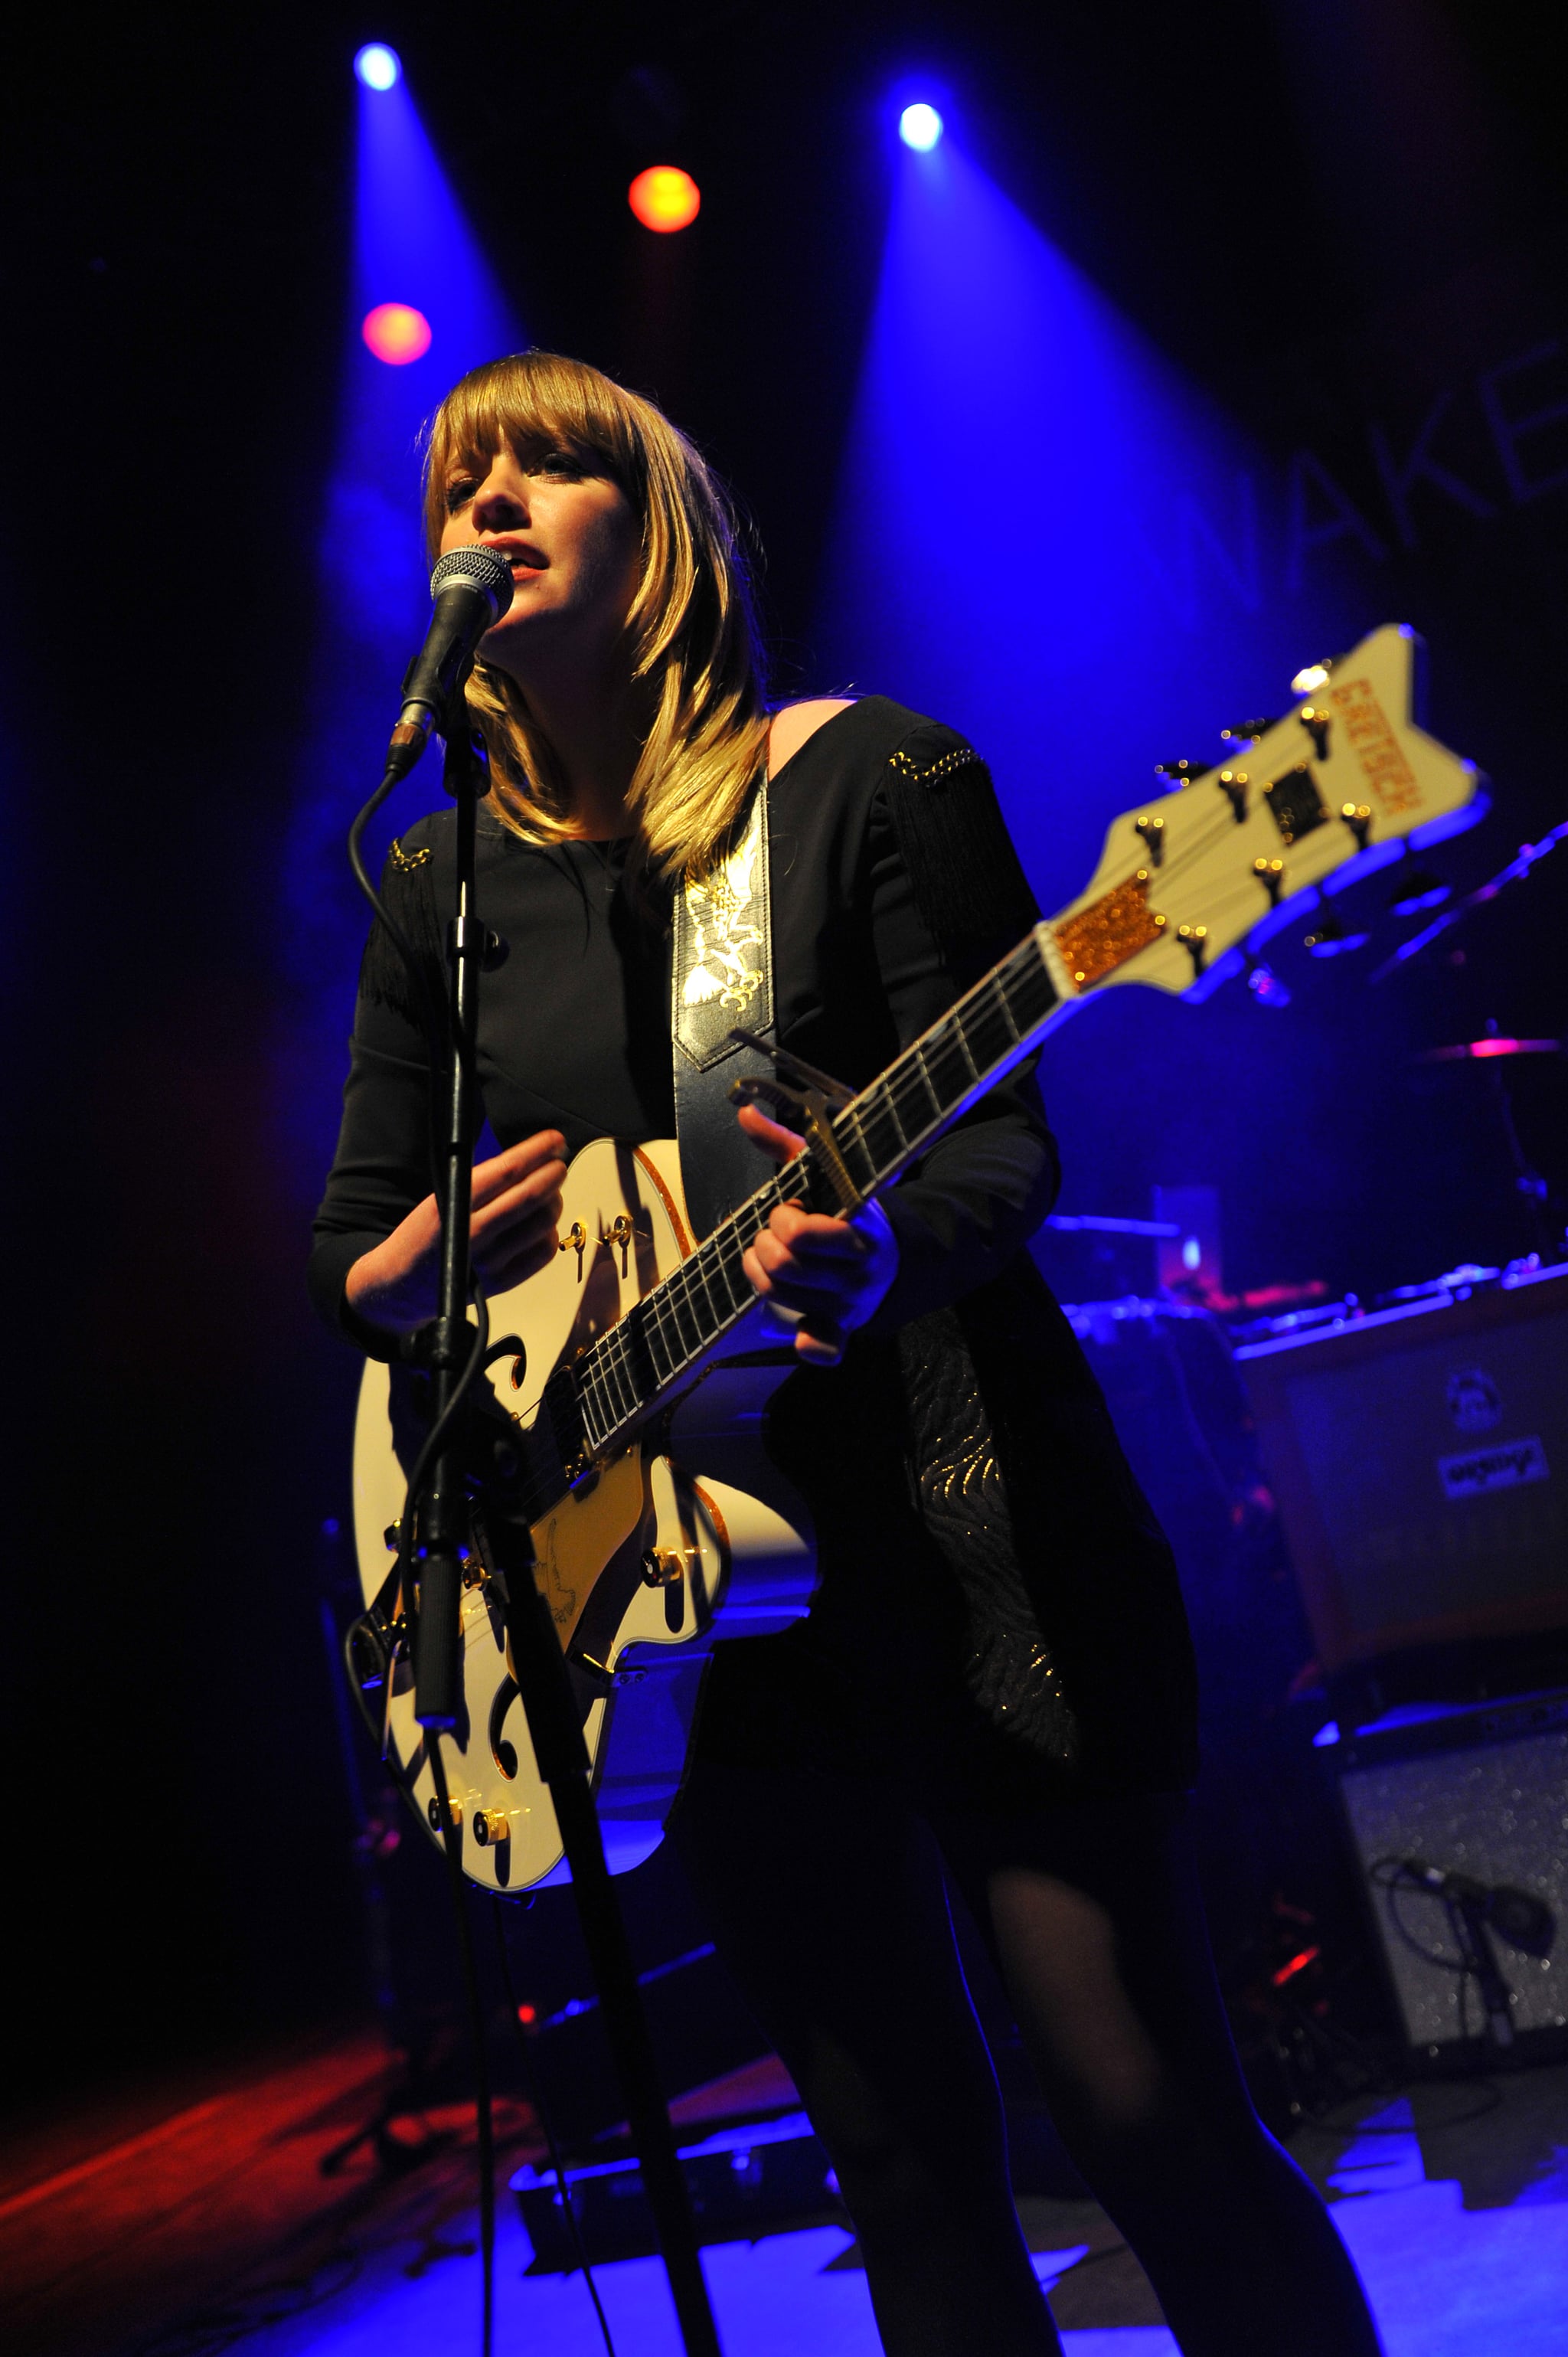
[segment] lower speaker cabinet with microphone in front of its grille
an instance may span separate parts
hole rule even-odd
[[[1412,2062],[1483,2051],[1485,2013],[1474,1978],[1417,1954],[1457,1959],[1455,1926],[1438,1895],[1410,1881],[1389,1888],[1386,1862],[1403,1860],[1523,1890],[1549,1909],[1547,1954],[1526,1954],[1500,1930],[1488,1937],[1518,2058],[1568,2046],[1568,1695],[1394,1711],[1330,1756]]]

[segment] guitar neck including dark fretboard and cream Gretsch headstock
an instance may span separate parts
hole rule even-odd
[[[858,1193],[898,1178],[1106,983],[1205,997],[1240,964],[1243,945],[1261,948],[1297,907],[1398,856],[1403,839],[1424,849],[1478,818],[1474,764],[1410,721],[1412,665],[1408,629],[1375,629],[1349,655],[1299,674],[1302,691],[1309,679],[1313,695],[1327,688],[1316,702],[1238,731],[1250,745],[1245,768],[1181,764],[1170,794],[1113,818],[1089,889],[832,1115]],[[755,1301],[745,1249],[780,1202],[799,1200],[813,1211],[839,1204],[811,1143],[556,1369],[549,1426],[564,1466],[608,1450],[738,1325]]]

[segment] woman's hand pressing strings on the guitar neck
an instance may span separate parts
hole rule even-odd
[[[792,1162],[806,1143],[757,1105],[740,1108],[740,1127],[776,1162]],[[865,1325],[898,1275],[898,1237],[877,1202],[854,1219],[825,1219],[785,1202],[740,1266],[797,1355],[809,1367],[835,1367],[844,1336]]]

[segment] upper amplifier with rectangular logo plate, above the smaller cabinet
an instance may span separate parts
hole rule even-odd
[[[1318,1659],[1568,1629],[1568,1266],[1247,1341]]]

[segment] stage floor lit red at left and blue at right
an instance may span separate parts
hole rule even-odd
[[[380,2091],[377,2051],[349,2041],[255,2067],[151,2126],[120,2112],[113,2128],[130,2135],[108,2133],[108,2114],[97,2145],[87,2124],[57,2128],[33,2140],[33,2166],[12,2143],[0,2343],[17,2357],[476,2350],[467,2121],[396,2121],[410,2166],[387,2173],[354,2143]],[[679,2110],[703,2117],[703,2100]],[[500,2131],[507,2166],[538,2154],[521,2107],[502,2110]],[[1568,2352],[1568,2067],[1377,2098],[1292,2150],[1330,2194],[1389,2357]],[[1021,2216],[1068,2357],[1174,2352],[1094,2204],[1028,2199]],[[498,2220],[498,2357],[594,2357],[582,2279],[526,2272],[533,2251],[505,2190]],[[726,2357],[877,2357],[846,2230],[717,2244],[705,2267]],[[655,2260],[601,2265],[597,2282],[618,2357],[679,2357]]]

